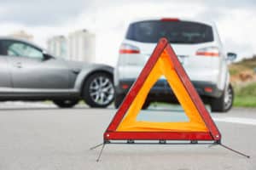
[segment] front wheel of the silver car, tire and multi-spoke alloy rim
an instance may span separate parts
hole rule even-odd
[[[95,73],[84,83],[83,98],[90,107],[107,107],[113,97],[113,78],[107,73]]]

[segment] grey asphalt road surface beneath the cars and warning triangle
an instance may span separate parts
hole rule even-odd
[[[108,144],[101,161],[96,162],[99,149],[89,149],[102,142],[102,133],[115,111],[0,104],[0,170],[256,169],[256,110],[212,114],[223,143],[250,155],[250,159],[220,146]]]

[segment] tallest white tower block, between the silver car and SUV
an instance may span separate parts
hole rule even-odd
[[[71,60],[96,62],[96,35],[87,30],[68,34],[67,55]]]

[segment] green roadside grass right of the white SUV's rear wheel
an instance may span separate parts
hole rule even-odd
[[[234,87],[235,107],[256,107],[256,82],[248,83],[245,86]]]

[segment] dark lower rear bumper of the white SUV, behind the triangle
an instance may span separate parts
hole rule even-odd
[[[116,94],[127,94],[134,81],[134,79],[123,79],[119,81],[119,85],[115,87]],[[218,98],[223,94],[223,90],[218,89],[217,85],[212,82],[192,81],[192,83],[197,93],[201,96],[201,99],[205,102],[207,102],[206,100],[209,97]],[[170,99],[177,100],[166,80],[159,80],[155,83],[148,94],[148,99],[150,101],[162,102],[168,102]]]

